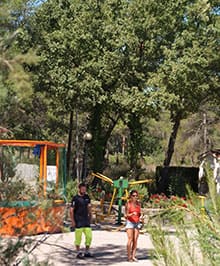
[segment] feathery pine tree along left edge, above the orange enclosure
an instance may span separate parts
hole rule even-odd
[[[21,25],[24,19],[21,14],[26,9],[27,2],[2,1],[0,4],[0,125],[9,127],[12,131],[8,108],[11,104],[20,105],[22,99],[32,94],[30,75],[25,64],[32,65],[37,62],[37,57],[32,50],[22,53],[17,45],[17,39],[22,34]],[[7,106],[6,103],[8,103]],[[10,111],[12,116],[17,116],[17,108],[16,110],[11,108]]]

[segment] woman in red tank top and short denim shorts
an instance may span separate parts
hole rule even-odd
[[[141,205],[138,201],[137,190],[132,190],[130,192],[129,200],[125,205],[125,215],[127,219],[125,229],[128,236],[128,261],[137,261],[135,256],[137,250],[137,240],[139,236],[141,217]]]

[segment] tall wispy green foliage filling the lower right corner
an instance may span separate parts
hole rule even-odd
[[[209,178],[209,185],[212,184],[214,188],[214,180],[210,174]],[[205,208],[202,199],[196,194],[190,192],[189,195],[191,196],[186,206],[182,207],[178,202],[174,205],[168,204],[165,212],[150,218],[148,231],[155,247],[155,265],[220,263],[219,195],[213,189],[205,199],[208,201]]]

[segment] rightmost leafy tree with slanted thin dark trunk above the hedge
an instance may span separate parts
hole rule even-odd
[[[154,85],[173,95],[168,104],[173,128],[164,166],[169,166],[171,162],[180,121],[197,112],[201,104],[212,97],[210,91],[219,87],[214,3],[178,1],[169,4],[172,12],[178,14],[178,17],[170,17],[177,28],[172,34],[172,44],[164,48],[163,63],[152,74]],[[166,16],[170,16],[168,6],[165,10]]]

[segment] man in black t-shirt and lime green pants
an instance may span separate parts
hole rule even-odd
[[[86,185],[79,184],[79,192],[72,198],[70,217],[72,226],[75,228],[75,245],[77,250],[77,258],[83,259],[84,257],[92,257],[89,248],[92,242],[91,223],[91,202],[89,196],[86,194]],[[82,233],[85,234],[86,251],[83,255],[80,252],[80,244],[82,240]]]

